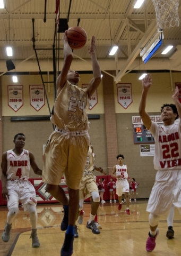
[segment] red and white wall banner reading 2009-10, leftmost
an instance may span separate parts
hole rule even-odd
[[[15,112],[23,106],[23,85],[8,85],[8,106]]]

